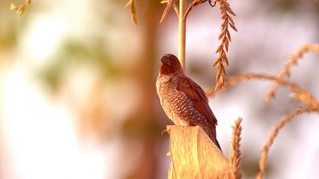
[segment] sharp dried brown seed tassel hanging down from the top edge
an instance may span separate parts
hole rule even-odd
[[[218,58],[213,64],[213,67],[217,65],[217,75],[216,75],[216,86],[215,89],[221,89],[224,86],[224,78],[223,75],[226,77],[226,71],[225,67],[223,65],[223,62],[226,63],[228,66],[228,59],[226,56],[226,52],[228,52],[228,45],[229,42],[231,42],[230,33],[228,30],[228,25],[237,31],[237,28],[235,27],[235,23],[232,19],[232,17],[228,14],[232,14],[236,16],[236,14],[231,10],[230,4],[226,0],[214,0],[214,2],[218,1],[219,9],[221,13],[221,18],[224,20],[224,22],[221,24],[221,33],[218,36],[218,40],[221,40],[220,45],[217,47],[217,50],[215,53],[219,53]],[[225,52],[225,50],[226,52]]]

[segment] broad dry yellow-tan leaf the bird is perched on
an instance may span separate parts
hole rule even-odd
[[[172,179],[231,179],[228,159],[199,126],[167,126]]]

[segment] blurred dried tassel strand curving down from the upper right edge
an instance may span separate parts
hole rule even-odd
[[[297,53],[289,55],[291,60],[289,60],[285,63],[285,68],[278,73],[277,77],[281,80],[284,80],[285,77],[289,77],[291,67],[293,65],[297,65],[298,60],[301,59],[306,52],[310,52],[310,51],[317,52],[319,54],[319,45],[318,44],[304,44],[303,46],[301,46],[297,50]],[[266,97],[265,97],[266,102],[268,102],[270,100],[270,98],[275,96],[275,91],[276,91],[277,87],[278,87],[278,83],[274,82],[273,86],[266,94]]]

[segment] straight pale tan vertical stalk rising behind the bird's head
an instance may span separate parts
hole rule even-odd
[[[187,9],[187,0],[179,0],[178,19],[178,59],[185,73],[185,39],[186,39],[186,18],[184,14]]]

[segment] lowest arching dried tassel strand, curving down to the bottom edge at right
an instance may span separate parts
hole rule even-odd
[[[274,139],[278,135],[279,130],[281,128],[283,128],[284,125],[287,122],[289,122],[290,120],[292,120],[294,117],[296,117],[298,115],[301,115],[301,114],[303,114],[305,112],[312,112],[312,111],[314,111],[312,106],[301,107],[301,108],[297,109],[296,111],[294,111],[294,112],[282,117],[281,120],[274,126],[274,129],[270,133],[270,136],[269,136],[269,138],[267,140],[267,143],[265,144],[265,146],[261,150],[261,159],[259,161],[260,172],[257,175],[257,179],[263,179],[264,178],[266,162],[267,162],[267,154],[268,154],[269,148],[271,147],[271,145],[274,142]]]

